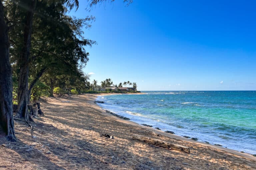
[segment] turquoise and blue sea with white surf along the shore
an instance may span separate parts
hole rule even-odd
[[[103,109],[139,124],[256,154],[256,91],[146,91],[100,96]]]

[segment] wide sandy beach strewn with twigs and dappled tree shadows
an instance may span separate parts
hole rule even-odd
[[[83,94],[40,100],[44,116],[31,126],[15,120],[18,141],[0,134],[0,169],[256,169],[256,157],[220,146],[193,141],[104,112]],[[102,134],[114,136],[113,139]],[[188,148],[159,147],[144,137]]]

